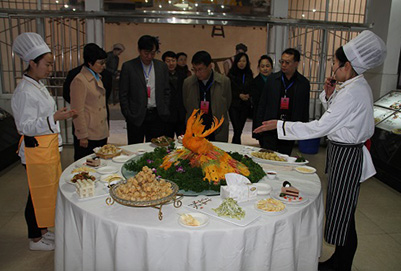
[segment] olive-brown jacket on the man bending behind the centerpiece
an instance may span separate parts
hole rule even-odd
[[[214,82],[212,85],[211,99],[212,112],[219,120],[224,116],[223,125],[215,132],[215,140],[220,142],[228,142],[228,109],[231,105],[231,83],[227,76],[214,71]],[[192,114],[194,109],[199,109],[200,96],[199,84],[196,75],[187,77],[184,81],[182,89],[184,106],[187,111],[186,119]]]

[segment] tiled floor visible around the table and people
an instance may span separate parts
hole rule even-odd
[[[118,120],[121,119],[119,116],[114,119],[110,125],[112,134],[109,142],[125,145],[125,122]],[[250,127],[251,122],[247,122],[242,144],[257,146],[256,140],[251,138]],[[297,151],[295,149],[293,153]],[[325,192],[325,148],[321,147],[316,155],[304,156],[310,161],[309,165],[317,169]],[[61,157],[65,168],[73,162],[73,148],[65,147]],[[28,187],[24,168],[15,163],[1,171],[0,184],[0,270],[53,270],[54,252],[36,252],[28,249],[24,219]],[[359,244],[352,270],[401,270],[401,193],[375,178],[363,183],[356,224]],[[332,251],[333,247],[325,243],[321,260],[330,257]]]

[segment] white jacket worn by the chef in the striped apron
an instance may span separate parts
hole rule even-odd
[[[320,99],[327,111],[319,120],[308,123],[277,122],[279,139],[300,140],[327,135],[329,140],[348,144],[365,143],[374,133],[372,90],[363,75],[337,85],[326,101],[322,91]],[[283,127],[284,126],[284,127]],[[361,182],[376,174],[368,149],[363,146]]]

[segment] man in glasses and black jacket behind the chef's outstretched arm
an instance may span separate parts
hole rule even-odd
[[[279,60],[281,71],[271,74],[266,81],[258,106],[257,122],[271,119],[309,121],[310,83],[298,71],[300,53],[286,49]],[[279,140],[277,130],[262,134],[262,148],[291,155],[294,141]]]

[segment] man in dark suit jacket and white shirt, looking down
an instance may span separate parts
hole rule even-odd
[[[165,63],[154,59],[156,37],[138,40],[139,57],[125,62],[120,75],[120,106],[127,121],[128,144],[143,143],[166,134],[170,88]]]

